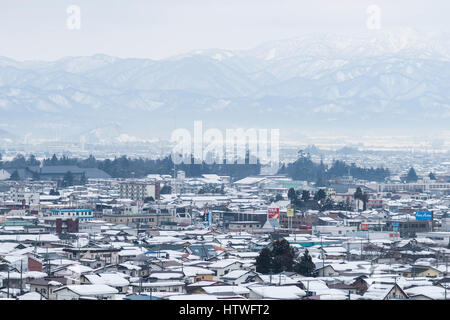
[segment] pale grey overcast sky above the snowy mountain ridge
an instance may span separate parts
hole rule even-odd
[[[80,8],[80,29],[67,27],[71,5]],[[159,59],[195,49],[248,49],[305,33],[369,32],[369,5],[381,9],[382,29],[450,31],[448,0],[2,0],[0,56]]]

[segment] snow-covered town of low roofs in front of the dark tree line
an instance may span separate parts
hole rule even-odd
[[[283,174],[0,170],[0,298],[448,299],[450,175],[412,171],[318,187]]]

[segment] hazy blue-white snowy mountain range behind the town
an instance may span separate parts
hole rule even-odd
[[[194,120],[285,135],[299,127],[439,132],[450,119],[449,80],[449,37],[411,30],[303,36],[163,60],[0,58],[0,124],[14,124],[17,136],[61,139],[110,123],[120,124],[112,131],[122,137],[153,138]],[[110,140],[112,131],[92,131],[89,140],[102,141],[102,132]]]

